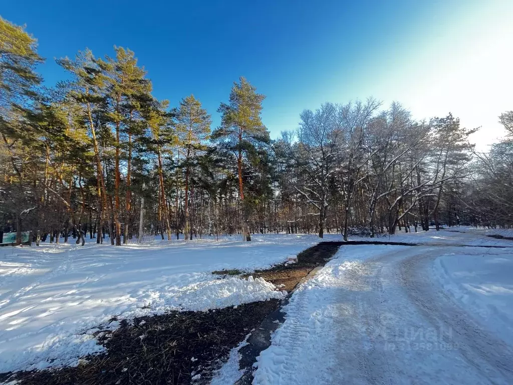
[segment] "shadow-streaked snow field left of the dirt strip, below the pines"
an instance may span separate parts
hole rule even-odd
[[[92,333],[98,326],[115,329],[114,316],[131,319],[282,298],[263,280],[219,279],[211,272],[266,268],[319,238],[253,238],[0,247],[0,373],[76,364],[78,357],[103,349]]]

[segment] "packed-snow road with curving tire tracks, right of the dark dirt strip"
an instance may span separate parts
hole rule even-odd
[[[433,294],[426,267],[456,246],[358,247],[294,294],[254,384],[513,383],[510,347]]]

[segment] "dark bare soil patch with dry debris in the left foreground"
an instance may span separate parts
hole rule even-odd
[[[23,385],[189,384],[201,382],[229,351],[278,309],[280,301],[253,302],[209,312],[171,312],[123,322],[103,341],[107,354],[87,356],[76,368],[0,375]]]

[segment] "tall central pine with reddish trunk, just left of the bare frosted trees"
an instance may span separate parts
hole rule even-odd
[[[221,116],[221,126],[216,128],[212,139],[235,152],[237,158],[237,173],[239,178],[239,197],[242,205],[242,236],[246,241],[251,240],[249,234],[249,207],[244,200],[243,160],[251,147],[257,147],[270,141],[269,131],[262,123],[263,94],[257,93],[242,76],[239,83],[235,82],[230,92],[229,103],[221,103],[218,112]]]

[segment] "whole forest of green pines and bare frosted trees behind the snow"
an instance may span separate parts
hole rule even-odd
[[[243,77],[207,111],[192,94],[155,99],[129,49],[58,59],[69,76],[52,88],[44,60],[0,18],[0,230],[17,243],[513,225],[513,111],[487,152],[450,113],[417,121],[373,98],[305,109],[272,140]]]

